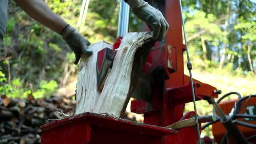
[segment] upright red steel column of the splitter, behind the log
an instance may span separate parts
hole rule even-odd
[[[160,3],[148,0],[155,7],[162,8],[170,28],[165,42],[156,43],[155,48],[149,54],[147,65],[151,65],[152,77],[158,77],[159,81],[152,82],[152,101],[131,101],[131,111],[144,114],[144,123],[151,125],[167,126],[185,118],[183,116],[185,103],[192,101],[191,85],[189,77],[184,75],[183,52],[186,50],[182,43],[182,24],[179,0],[165,0],[165,7]],[[144,26],[144,30],[148,30]],[[164,68],[164,70],[163,70]],[[154,73],[155,69],[160,73]],[[150,73],[145,72],[144,73]],[[155,76],[154,76],[155,75]],[[167,77],[167,78],[166,78]],[[196,100],[207,97],[218,97],[216,88],[211,85],[194,80]],[[195,114],[194,114],[195,115]],[[192,132],[193,130],[193,132]],[[191,139],[188,139],[191,138]],[[193,139],[193,140],[192,140]],[[196,139],[196,140],[195,140]],[[166,136],[162,144],[196,143],[197,132],[194,128],[184,128],[178,131],[176,136]]]

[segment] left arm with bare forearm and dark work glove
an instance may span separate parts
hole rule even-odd
[[[80,60],[81,53],[92,54],[87,47],[90,42],[83,37],[74,27],[67,24],[56,13],[48,8],[42,0],[14,0],[29,16],[44,26],[59,33],[63,40],[75,53],[75,64]]]

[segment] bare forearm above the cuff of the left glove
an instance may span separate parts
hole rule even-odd
[[[42,0],[14,0],[29,16],[44,26],[60,33],[67,26],[61,17],[53,13]]]

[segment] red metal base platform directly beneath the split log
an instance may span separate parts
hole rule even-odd
[[[40,128],[42,144],[161,144],[177,131],[108,114],[83,113]]]

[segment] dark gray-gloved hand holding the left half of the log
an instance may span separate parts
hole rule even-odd
[[[67,42],[69,47],[75,53],[75,61],[74,64],[77,64],[80,60],[82,53],[87,53],[91,55],[93,51],[88,49],[88,46],[91,44],[88,40],[86,40],[83,35],[81,35],[74,27],[68,25],[61,33],[63,40]]]

